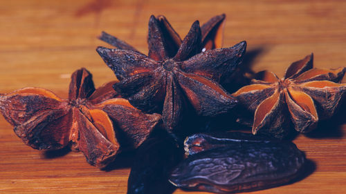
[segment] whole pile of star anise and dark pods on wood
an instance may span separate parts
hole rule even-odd
[[[23,88],[0,95],[1,113],[28,146],[69,146],[98,168],[136,149],[129,194],[176,187],[232,193],[287,184],[302,173],[306,158],[282,139],[293,130],[308,133],[336,113],[345,99],[346,84],[339,82],[346,68],[313,68],[311,54],[293,62],[282,79],[263,71],[250,85],[226,90],[246,42],[221,48],[225,17],[202,26],[195,21],[181,39],[165,17],[152,16],[148,55],[102,32],[99,38],[115,48],[97,52],[118,81],[95,89],[91,73],[81,68],[71,76],[69,99]],[[253,134],[210,133],[208,121],[225,115],[252,126]],[[231,120],[226,130],[236,130]]]

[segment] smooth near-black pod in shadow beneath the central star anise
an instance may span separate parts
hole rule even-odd
[[[127,194],[172,193],[168,178],[182,159],[183,149],[167,133],[145,140],[131,166]]]

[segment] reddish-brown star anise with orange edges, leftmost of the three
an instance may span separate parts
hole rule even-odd
[[[114,83],[95,90],[91,74],[82,68],[71,76],[69,99],[43,88],[23,88],[0,95],[0,110],[28,146],[39,150],[72,146],[90,164],[103,168],[119,152],[116,136],[127,137],[125,147],[136,148],[161,119],[141,113],[126,99],[113,98]]]

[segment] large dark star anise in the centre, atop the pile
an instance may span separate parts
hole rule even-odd
[[[199,21],[195,21],[176,52],[167,43],[154,16],[149,20],[148,57],[127,49],[97,48],[119,83],[113,88],[146,113],[162,113],[165,128],[177,128],[192,106],[201,116],[227,113],[237,101],[218,83],[244,55],[246,42],[201,52]],[[215,81],[216,80],[216,81]]]

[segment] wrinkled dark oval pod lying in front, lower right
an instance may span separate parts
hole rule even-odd
[[[289,183],[305,161],[293,143],[246,142],[191,155],[174,169],[170,182],[195,191],[254,191]]]

